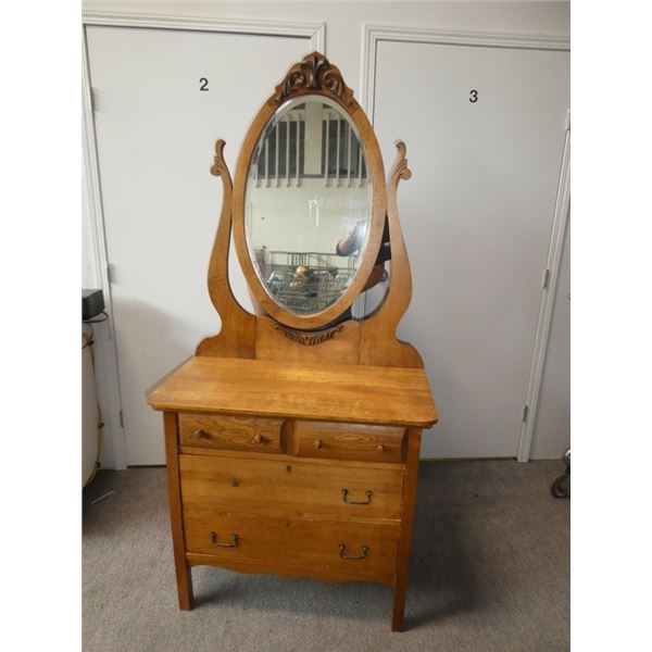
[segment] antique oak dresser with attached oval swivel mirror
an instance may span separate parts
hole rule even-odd
[[[213,565],[383,582],[403,629],[421,436],[438,415],[418,353],[396,338],[411,297],[397,147],[386,183],[372,126],[317,52],[254,118],[234,185],[215,146],[222,327],[148,397],[164,416],[183,610],[191,567]],[[254,313],[230,290],[231,228]],[[353,317],[377,284],[383,300]]]

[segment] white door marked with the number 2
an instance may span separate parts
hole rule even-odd
[[[233,174],[249,122],[311,41],[95,26],[87,40],[127,464],[163,464],[146,391],[220,329],[206,289],[214,142]],[[248,301],[241,275],[235,285]]]

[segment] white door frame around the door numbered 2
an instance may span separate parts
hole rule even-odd
[[[109,313],[106,322],[108,338],[97,342],[98,359],[100,362],[98,364],[97,381],[99,392],[101,392],[100,396],[105,400],[103,406],[103,432],[104,439],[109,440],[113,453],[113,466],[116,469],[125,469],[127,467],[127,449],[122,418],[117,344],[115,341],[111,297],[110,261],[104,229],[102,184],[98,161],[86,27],[88,25],[97,25],[305,38],[310,41],[311,50],[317,50],[325,54],[326,24],[297,21],[225,20],[196,15],[175,16],[163,15],[156,11],[152,11],[151,13],[147,11],[131,13],[86,10],[82,14],[82,147],[86,179],[84,206],[87,213],[82,218],[88,221],[96,281],[102,289],[106,312]]]

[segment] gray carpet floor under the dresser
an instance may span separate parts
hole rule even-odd
[[[422,463],[402,634],[391,591],[365,582],[197,567],[196,607],[179,611],[165,469],[100,472],[84,491],[84,650],[568,650],[569,501],[550,494],[563,469]]]

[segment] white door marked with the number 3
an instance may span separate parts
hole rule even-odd
[[[399,336],[440,422],[425,457],[515,456],[564,146],[568,53],[381,41],[375,128],[414,293]]]

